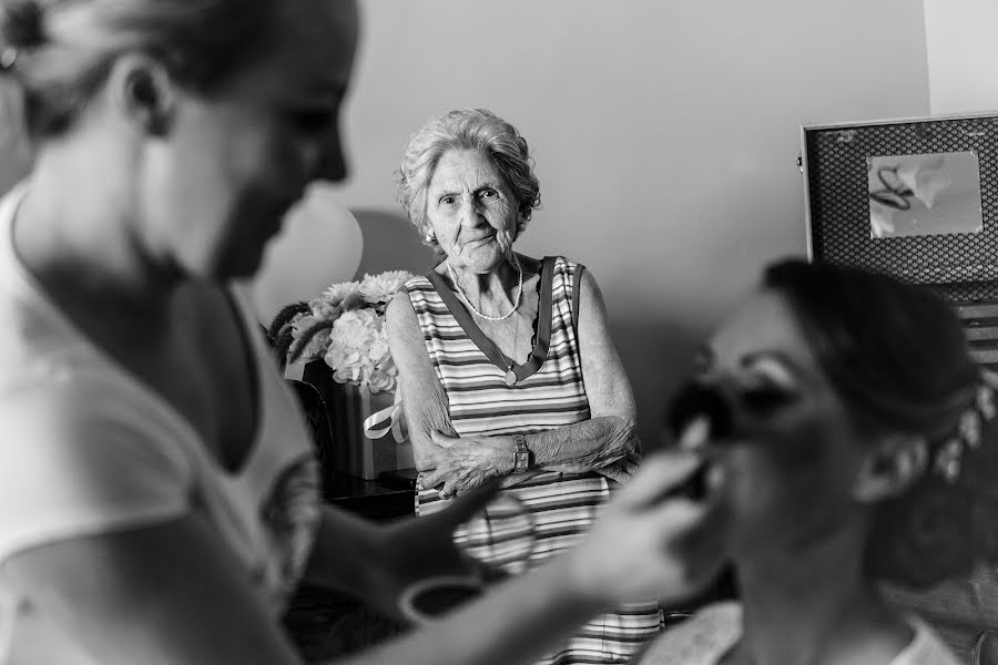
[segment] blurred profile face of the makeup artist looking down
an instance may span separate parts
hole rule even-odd
[[[222,90],[183,94],[146,168],[144,216],[189,275],[252,275],[309,182],[346,175],[338,115],[357,8],[353,0],[274,4],[272,50]]]

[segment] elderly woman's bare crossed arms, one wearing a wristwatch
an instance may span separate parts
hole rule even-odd
[[[507,475],[507,483],[513,484],[542,471],[597,471],[615,480],[630,477],[640,459],[634,397],[610,338],[602,296],[589,273],[583,273],[579,301],[578,336],[591,417],[529,434],[531,470],[513,473],[513,437],[455,434],[447,396],[426,352],[411,301],[393,299],[388,340],[399,368],[416,466],[426,472],[427,487],[442,483],[451,494],[491,477]]]

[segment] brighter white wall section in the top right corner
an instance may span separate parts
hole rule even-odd
[[[998,111],[998,3],[924,1],[931,112]]]

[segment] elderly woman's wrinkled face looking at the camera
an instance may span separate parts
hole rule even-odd
[[[511,250],[518,205],[492,160],[475,150],[444,153],[427,186],[426,217],[447,260],[495,269]]]

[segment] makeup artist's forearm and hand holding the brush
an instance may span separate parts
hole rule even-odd
[[[699,463],[690,453],[650,457],[579,545],[356,662],[529,663],[621,603],[650,596],[679,603],[694,595],[723,561],[726,519],[713,499],[670,498]]]

